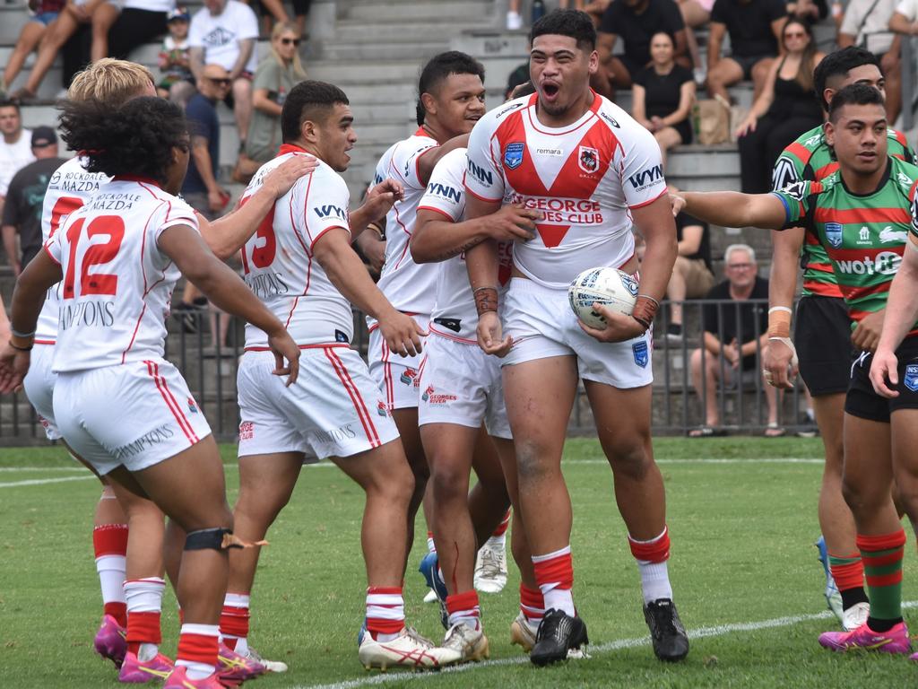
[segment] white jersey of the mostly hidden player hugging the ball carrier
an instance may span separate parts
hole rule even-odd
[[[446,153],[433,168],[427,191],[418,209],[434,210],[453,222],[465,214],[465,149]],[[512,242],[498,244],[500,258],[499,281],[506,286],[513,265]],[[478,312],[472,286],[465,269],[465,252],[437,265],[436,303],[431,311],[431,333],[476,344]]]

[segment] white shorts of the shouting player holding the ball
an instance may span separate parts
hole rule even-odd
[[[548,356],[577,356],[580,378],[625,390],[654,380],[649,331],[625,342],[599,342],[584,333],[565,289],[550,289],[523,277],[510,280],[505,297],[504,334],[513,347],[503,366]]]

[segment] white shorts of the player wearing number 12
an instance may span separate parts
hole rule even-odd
[[[59,373],[54,418],[102,475],[147,469],[210,435],[185,378],[165,359]]]

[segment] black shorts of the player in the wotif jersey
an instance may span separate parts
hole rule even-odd
[[[845,413],[858,419],[890,423],[890,413],[900,409],[918,409],[918,337],[906,338],[896,350],[899,358],[899,385],[894,390],[899,397],[880,397],[870,382],[873,356],[867,352],[858,356],[851,367],[851,385],[845,398]]]

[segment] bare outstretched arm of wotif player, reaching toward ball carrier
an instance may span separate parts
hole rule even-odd
[[[774,194],[738,191],[680,191],[689,215],[724,227],[761,227],[780,230],[788,221],[784,202]]]

